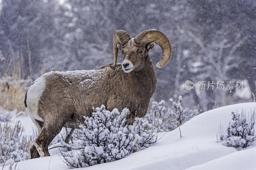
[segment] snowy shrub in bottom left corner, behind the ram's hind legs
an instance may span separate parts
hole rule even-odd
[[[11,126],[10,122],[6,122],[4,126],[0,124],[0,166],[28,159],[32,140],[22,133],[20,121],[15,126]]]

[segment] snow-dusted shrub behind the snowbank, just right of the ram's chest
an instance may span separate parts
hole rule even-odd
[[[153,101],[151,103],[151,112],[147,113],[145,118],[149,122],[159,118],[159,120],[163,121],[161,125],[161,129],[163,130],[173,130],[178,128],[180,125],[199,114],[198,109],[190,110],[188,108],[183,108],[181,102],[182,96],[179,96],[177,102],[170,98],[170,106],[168,107],[164,100],[161,100],[159,103]]]

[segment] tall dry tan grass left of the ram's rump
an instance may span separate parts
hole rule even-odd
[[[27,40],[28,43],[28,40]],[[0,54],[1,55],[1,54]],[[3,73],[0,73],[0,107],[6,110],[17,109],[18,112],[25,111],[24,97],[29,85],[32,83],[33,67],[31,65],[31,52],[28,43],[28,61],[29,67],[24,66],[24,56],[22,51],[14,52],[10,45],[10,56],[4,54],[2,65]],[[41,54],[41,65],[43,54]],[[41,68],[41,73],[44,73],[44,68]],[[25,73],[29,71],[30,78],[25,79]],[[36,74],[35,74],[36,76]]]

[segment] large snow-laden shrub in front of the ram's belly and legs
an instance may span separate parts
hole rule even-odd
[[[157,140],[158,128],[143,118],[135,118],[133,125],[126,125],[130,114],[127,108],[112,112],[102,105],[92,117],[84,117],[83,125],[73,142],[62,143],[69,152],[61,152],[69,167],[86,167],[115,161],[148,147]]]

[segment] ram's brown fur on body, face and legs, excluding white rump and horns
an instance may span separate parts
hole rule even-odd
[[[111,63],[95,69],[91,75],[83,71],[44,74],[45,89],[37,113],[44,120],[44,126],[30,149],[31,158],[39,157],[35,148],[49,156],[48,145],[61,128],[77,128],[77,121],[83,122],[84,115],[91,116],[92,107],[104,104],[110,111],[127,107],[132,113],[128,119],[130,122],[135,112],[137,117],[143,117],[156,89],[156,73],[148,56],[148,51],[154,46],[152,42],[146,46],[137,45],[133,40],[124,46],[118,44],[123,59],[129,59],[134,65],[130,73],[125,73],[121,64],[112,70]],[[140,50],[143,53],[139,53]]]

